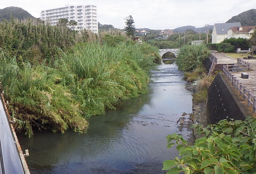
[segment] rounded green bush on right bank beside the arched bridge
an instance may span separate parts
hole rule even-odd
[[[176,63],[183,71],[192,71],[203,66],[203,62],[210,52],[205,44],[184,45],[181,47]]]

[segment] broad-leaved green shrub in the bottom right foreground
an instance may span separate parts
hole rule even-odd
[[[167,160],[167,174],[255,174],[256,118],[245,121],[221,120],[217,124],[193,125],[203,135],[194,145],[188,145],[181,135],[168,135],[168,148],[176,148],[181,158]],[[175,142],[173,142],[175,141]]]

